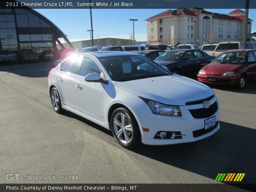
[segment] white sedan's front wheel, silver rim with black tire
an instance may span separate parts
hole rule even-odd
[[[116,141],[124,148],[134,148],[139,144],[140,129],[132,113],[125,108],[114,110],[111,115],[111,130]]]

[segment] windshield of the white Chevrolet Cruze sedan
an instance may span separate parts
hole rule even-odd
[[[170,75],[161,66],[144,56],[110,56],[100,58],[103,66],[114,81]]]

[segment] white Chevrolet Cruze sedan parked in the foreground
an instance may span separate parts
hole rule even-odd
[[[129,52],[72,55],[49,72],[56,112],[68,110],[112,130],[132,148],[193,142],[219,128],[219,105],[206,85],[171,74]]]

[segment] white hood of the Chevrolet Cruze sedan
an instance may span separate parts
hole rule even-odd
[[[116,86],[137,96],[180,106],[213,94],[208,86],[179,75],[116,82]]]

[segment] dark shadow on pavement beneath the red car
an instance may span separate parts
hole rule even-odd
[[[242,90],[238,90],[233,86],[224,85],[208,85],[210,88],[215,88],[223,91],[230,91],[236,93],[256,94],[256,81],[246,82],[246,85]]]

